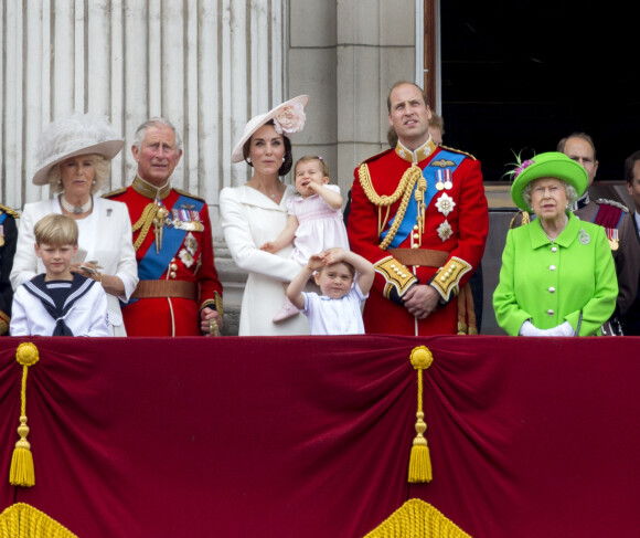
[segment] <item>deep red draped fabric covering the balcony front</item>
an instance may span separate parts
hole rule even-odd
[[[83,538],[352,538],[412,497],[474,537],[640,534],[640,338],[34,337],[14,488],[21,341],[0,339],[0,511]],[[434,479],[409,485],[420,345]]]

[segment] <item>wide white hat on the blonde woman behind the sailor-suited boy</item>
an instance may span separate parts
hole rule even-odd
[[[46,184],[49,171],[57,163],[78,155],[98,154],[111,160],[125,140],[106,117],[74,114],[49,124],[38,140],[38,170],[33,184]]]

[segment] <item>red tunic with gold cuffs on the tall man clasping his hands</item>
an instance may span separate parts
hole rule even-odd
[[[451,166],[454,165],[450,160],[451,154],[459,161],[457,166]],[[423,233],[420,234],[419,230],[414,228],[396,246],[442,251],[442,263],[436,266],[412,265],[410,267],[403,266],[395,259],[387,261],[386,264],[383,263],[390,257],[390,252],[380,247],[382,239],[378,234],[378,207],[367,198],[360,179],[361,167],[356,168],[346,230],[351,250],[376,267],[373,288],[363,312],[367,334],[456,334],[458,329],[456,295],[478,267],[484,252],[489,214],[480,162],[460,151],[436,147],[430,139],[416,150],[415,155],[420,159],[417,165],[423,170],[426,167],[448,169],[449,176],[444,175],[442,178],[449,179],[450,184],[447,184],[448,188],[442,188],[440,184],[441,189],[436,191],[426,207]],[[395,150],[390,149],[365,161],[375,194],[392,196],[401,178],[412,166],[412,159],[410,151],[398,145]],[[430,178],[428,173],[423,173],[423,177],[425,176]],[[428,179],[427,183],[431,183],[428,188],[433,191],[434,181]],[[450,199],[448,203],[446,197],[445,201],[439,201],[445,194]],[[401,201],[402,196],[399,200],[391,204],[388,221],[396,215]],[[417,204],[414,196],[409,204]],[[383,207],[380,211],[382,221],[385,213],[386,208]],[[414,221],[409,223],[412,226],[416,224]],[[388,224],[385,228],[388,229]],[[399,287],[396,286],[397,281],[394,278],[393,271],[388,271],[390,264],[401,276],[405,270],[409,278],[415,275],[419,284],[429,284],[434,279],[434,284],[438,284],[434,287],[440,294],[441,302],[447,302],[447,304],[438,306],[426,319],[416,320],[402,304],[397,304],[402,303],[399,296],[408,287],[403,288],[402,284]],[[401,271],[397,267],[401,267]]]

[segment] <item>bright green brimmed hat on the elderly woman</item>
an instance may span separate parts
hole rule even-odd
[[[566,181],[576,189],[579,197],[583,196],[589,184],[587,171],[579,162],[558,151],[540,154],[523,161],[513,170],[511,199],[515,205],[524,211],[530,211],[531,208],[522,198],[522,190],[533,180],[540,178],[554,178]]]

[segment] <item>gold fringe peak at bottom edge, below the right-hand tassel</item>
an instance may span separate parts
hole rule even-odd
[[[437,508],[408,499],[364,538],[471,538]]]

